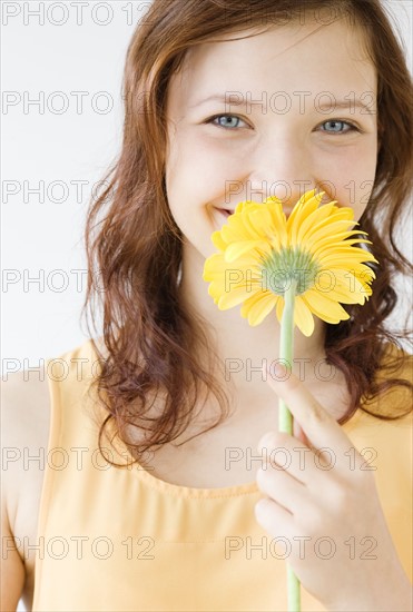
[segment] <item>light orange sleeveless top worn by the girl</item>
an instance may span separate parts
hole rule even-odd
[[[98,450],[106,413],[89,389],[91,343],[47,365],[51,424],[33,611],[285,611],[288,542],[256,523],[255,482],[190,488],[137,464],[110,465]],[[358,409],[343,428],[358,451],[375,450],[386,521],[412,576],[412,419]],[[126,446],[105,452],[131,462]],[[302,588],[302,610],[325,609]]]

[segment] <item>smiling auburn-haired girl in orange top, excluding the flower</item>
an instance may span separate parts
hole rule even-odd
[[[102,337],[50,359],[46,391],[7,385],[7,446],[47,454],[8,462],[2,610],[26,580],[39,611],[282,611],[286,562],[303,610],[410,610],[411,366],[384,323],[412,89],[381,2],[155,0],[125,98],[87,223]],[[219,312],[203,266],[238,201],[288,214],[312,188],[353,207],[377,278],[266,376],[276,317]]]

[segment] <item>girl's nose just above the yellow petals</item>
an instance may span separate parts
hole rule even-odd
[[[275,196],[284,208],[292,208],[305,191],[319,187],[309,152],[303,141],[292,137],[263,139],[249,167],[248,199],[254,201]]]

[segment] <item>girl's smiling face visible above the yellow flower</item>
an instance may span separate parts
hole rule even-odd
[[[248,32],[252,33],[252,32]],[[237,34],[237,36],[245,36]],[[376,75],[343,22],[204,43],[169,85],[166,186],[203,258],[225,209],[277,196],[288,211],[319,187],[358,219],[377,156]]]

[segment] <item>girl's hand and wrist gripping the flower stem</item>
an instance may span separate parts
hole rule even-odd
[[[295,437],[269,432],[257,473],[256,520],[327,610],[411,611],[412,594],[365,460],[336,421],[283,366],[267,382],[294,416]],[[278,448],[278,452],[276,451]],[[352,450],[350,462],[348,451]]]

